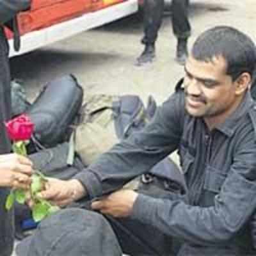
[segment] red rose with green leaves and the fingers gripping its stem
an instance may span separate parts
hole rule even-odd
[[[5,125],[8,135],[13,141],[13,152],[20,155],[12,155],[17,157],[14,163],[3,159],[2,168],[9,170],[9,172],[5,173],[5,179],[2,182],[4,182],[5,186],[12,188],[10,195],[6,199],[6,209],[11,209],[15,200],[19,204],[24,204],[29,199],[32,203],[33,219],[40,221],[49,214],[58,211],[59,207],[38,196],[38,193],[44,189],[47,178],[38,170],[32,170],[32,163],[26,158],[26,145],[33,134],[34,124],[29,116],[20,115],[6,122]],[[8,173],[10,176],[8,176]]]

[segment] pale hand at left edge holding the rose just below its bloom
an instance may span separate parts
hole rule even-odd
[[[0,186],[28,189],[31,184],[31,161],[17,154],[0,155]]]

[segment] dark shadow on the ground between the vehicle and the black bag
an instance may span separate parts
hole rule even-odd
[[[11,58],[12,78],[36,81],[38,77],[47,77],[50,81],[63,74],[76,74],[81,67],[90,72],[95,67],[102,65],[102,61],[111,62],[120,58],[111,52],[86,52],[86,51],[52,51],[42,49]],[[58,68],[61,67],[61,68]],[[45,74],[45,76],[44,76]],[[45,80],[46,81],[46,80]],[[38,83],[45,83],[44,79]],[[38,84],[35,84],[35,87]]]

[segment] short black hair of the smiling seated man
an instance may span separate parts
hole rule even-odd
[[[253,77],[256,47],[249,36],[229,26],[216,26],[196,39],[191,54],[199,61],[210,62],[222,56],[227,61],[227,75],[235,81],[243,72]]]

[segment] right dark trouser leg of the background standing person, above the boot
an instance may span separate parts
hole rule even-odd
[[[177,38],[188,38],[191,34],[188,2],[188,0],[172,0],[172,28]]]

